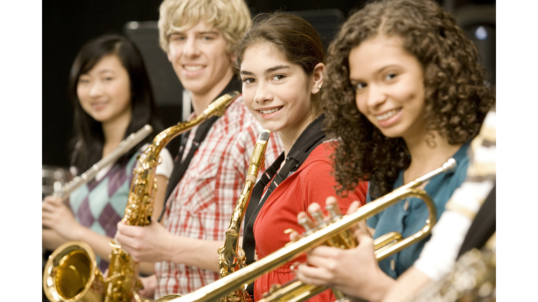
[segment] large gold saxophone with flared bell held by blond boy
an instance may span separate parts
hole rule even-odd
[[[200,116],[165,129],[153,139],[151,145],[137,158],[138,166],[133,171],[135,175],[123,216],[125,224],[143,227],[150,223],[153,196],[157,191],[156,167],[160,164],[159,154],[167,143],[208,117],[222,116],[226,107],[239,94],[231,92],[219,97]],[[106,279],[96,268],[95,255],[88,245],[73,242],[58,247],[50,255],[43,273],[43,289],[50,301],[127,302],[132,297],[138,302],[144,301],[137,294],[142,286],[137,278],[137,262],[115,240],[109,244],[112,252]]]

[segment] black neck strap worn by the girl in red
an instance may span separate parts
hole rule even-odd
[[[290,172],[297,171],[301,164],[303,164],[303,162],[305,162],[305,160],[308,158],[308,155],[310,155],[312,150],[323,143],[325,138],[325,134],[322,131],[324,117],[324,114],[319,115],[314,122],[310,123],[308,127],[306,127],[301,136],[297,138],[297,141],[289,151],[289,156],[286,158],[286,164],[282,166],[280,172],[276,173],[284,160],[284,152],[282,152],[280,157],[278,157],[278,159],[265,171],[265,173],[263,173],[261,180],[256,182],[256,185],[252,190],[249,205],[247,206],[247,211],[244,217],[245,224],[243,233],[243,250],[247,257],[247,265],[254,262],[256,241],[254,240],[253,229],[256,216],[270,194],[273,193],[273,190],[276,189],[276,187],[278,187],[278,185],[280,185],[288,177]],[[263,190],[271,179],[273,179],[273,182],[270,183],[267,192],[263,196],[263,199],[261,199]]]

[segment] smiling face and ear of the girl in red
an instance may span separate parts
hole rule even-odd
[[[263,128],[295,141],[315,120],[311,96],[319,92],[323,81],[319,73],[324,71],[324,65],[318,65],[307,75],[298,64],[282,59],[273,46],[255,44],[244,51],[243,100]]]

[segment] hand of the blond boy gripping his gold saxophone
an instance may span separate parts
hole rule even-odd
[[[165,248],[173,235],[160,223],[151,221],[145,227],[135,227],[118,222],[116,242],[137,262],[157,262],[165,260]]]

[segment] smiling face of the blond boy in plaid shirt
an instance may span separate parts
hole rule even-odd
[[[169,37],[168,60],[181,85],[196,96],[219,94],[233,76],[226,40],[203,20]]]

